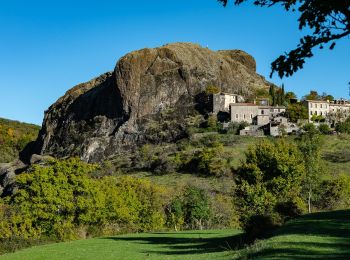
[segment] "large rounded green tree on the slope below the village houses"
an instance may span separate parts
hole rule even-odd
[[[280,139],[250,147],[237,170],[235,192],[242,221],[273,213],[277,203],[301,201],[304,179],[303,156],[295,144]]]

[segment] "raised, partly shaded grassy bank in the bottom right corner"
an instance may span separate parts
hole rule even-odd
[[[314,213],[288,222],[237,258],[350,259],[350,210]]]

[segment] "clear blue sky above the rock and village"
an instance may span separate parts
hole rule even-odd
[[[0,117],[41,124],[44,111],[72,86],[113,70],[132,50],[194,42],[242,49],[266,78],[270,63],[302,36],[293,13],[216,0],[0,0]],[[348,97],[350,39],[317,51],[285,84]]]

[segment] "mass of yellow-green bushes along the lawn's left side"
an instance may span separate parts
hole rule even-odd
[[[90,226],[163,227],[164,189],[132,177],[90,177],[96,165],[78,159],[35,165],[17,177],[18,191],[0,205],[0,238],[74,239]],[[103,232],[103,231],[102,231]]]

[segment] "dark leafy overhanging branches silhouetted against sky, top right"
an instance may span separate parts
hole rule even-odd
[[[218,0],[224,6],[229,0]],[[248,0],[234,0],[240,5]],[[329,45],[333,49],[336,41],[350,35],[350,0],[254,0],[254,5],[271,7],[282,5],[285,11],[298,10],[299,30],[306,28],[310,34],[300,39],[297,47],[279,56],[271,64],[271,76],[277,72],[283,78],[302,69],[306,58],[313,56],[316,47]]]

